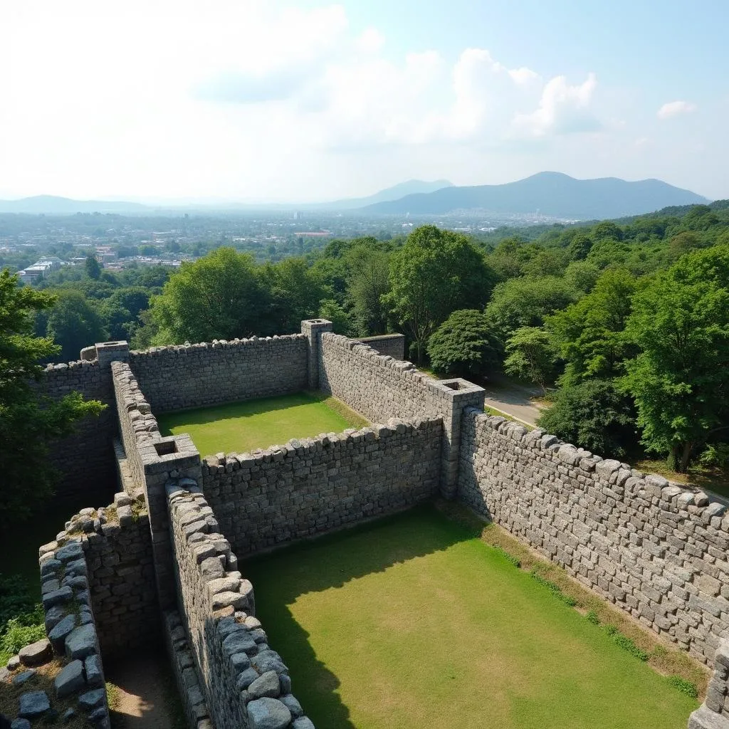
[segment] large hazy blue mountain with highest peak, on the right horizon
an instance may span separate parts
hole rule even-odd
[[[456,210],[486,213],[539,213],[557,218],[594,220],[637,215],[666,206],[708,203],[690,190],[648,179],[626,182],[617,177],[578,180],[559,172],[540,172],[517,182],[474,187],[446,187],[375,203],[358,212],[378,215],[440,215]]]

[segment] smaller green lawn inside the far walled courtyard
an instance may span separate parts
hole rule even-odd
[[[333,408],[336,408],[333,409]],[[332,398],[308,392],[230,402],[157,417],[163,435],[189,433],[203,456],[246,453],[283,444],[292,438],[339,433],[366,421]]]

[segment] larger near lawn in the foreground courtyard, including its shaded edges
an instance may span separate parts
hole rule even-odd
[[[317,729],[685,729],[698,706],[430,507],[242,569]]]

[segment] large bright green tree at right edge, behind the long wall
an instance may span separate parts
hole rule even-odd
[[[640,351],[622,383],[642,443],[685,472],[698,448],[729,427],[729,246],[686,254],[647,281],[625,332]]]

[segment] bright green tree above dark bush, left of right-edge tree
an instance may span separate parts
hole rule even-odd
[[[608,269],[592,292],[547,318],[547,328],[566,362],[561,385],[622,374],[623,359],[635,354],[623,335],[635,289],[636,278],[627,270]]]

